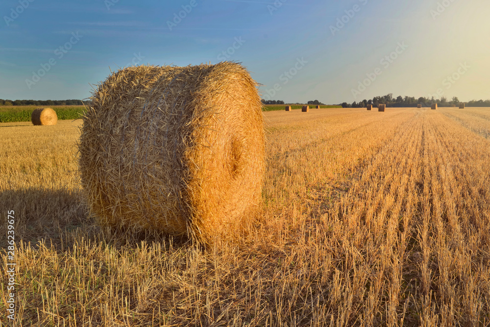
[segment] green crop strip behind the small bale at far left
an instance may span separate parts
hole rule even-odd
[[[0,105],[0,123],[30,122],[32,111],[36,108],[52,108],[58,120],[80,118],[83,105]]]

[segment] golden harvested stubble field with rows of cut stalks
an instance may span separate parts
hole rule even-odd
[[[490,109],[264,116],[262,218],[210,249],[95,226],[77,183],[81,121],[0,124],[17,322],[489,326]]]

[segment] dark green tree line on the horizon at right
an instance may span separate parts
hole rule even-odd
[[[386,96],[374,97],[371,100],[365,99],[363,101],[354,101],[352,103],[343,102],[339,105],[341,105],[343,108],[365,108],[368,104],[372,104],[373,106],[377,107],[380,103],[386,104],[387,107],[417,107],[418,104],[422,104],[424,107],[430,107],[433,103],[437,103],[438,106],[441,107],[450,107],[453,105],[458,105],[460,101],[458,97],[453,97],[450,101],[445,97],[441,97],[441,99],[434,99],[434,97],[431,99],[424,97],[416,99],[415,97],[408,96],[398,96],[393,98],[393,94],[389,93]],[[465,102],[465,104],[467,107],[490,107],[490,100],[471,100]]]

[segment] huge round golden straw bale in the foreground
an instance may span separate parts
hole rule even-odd
[[[264,123],[243,66],[128,67],[92,100],[79,170],[99,224],[210,244],[234,237],[257,213]]]

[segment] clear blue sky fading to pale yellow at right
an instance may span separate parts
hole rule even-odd
[[[490,99],[489,0],[2,0],[0,14],[1,99],[85,99],[120,67],[223,60],[264,99]]]

